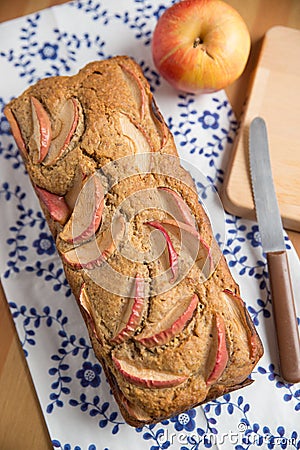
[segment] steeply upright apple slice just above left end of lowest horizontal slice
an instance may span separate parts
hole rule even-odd
[[[135,295],[128,299],[123,318],[112,343],[120,344],[127,341],[136,331],[142,320],[145,306],[144,279],[139,275],[135,277]]]

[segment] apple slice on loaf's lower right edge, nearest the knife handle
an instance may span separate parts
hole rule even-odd
[[[239,336],[241,338],[243,336],[242,326],[244,327],[244,329],[246,329],[250,358],[255,358],[258,354],[259,348],[257,334],[253,322],[248,316],[246,305],[242,298],[232,292],[230,289],[224,289],[223,294],[225,296],[225,301],[228,305],[229,310],[231,310],[237,317],[235,323],[239,328]]]

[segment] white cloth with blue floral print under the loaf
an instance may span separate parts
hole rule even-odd
[[[53,448],[124,450],[130,442],[130,448],[149,450],[300,449],[300,389],[280,377],[258,226],[224,214],[215,201],[239,124],[223,91],[198,97],[176,93],[151,58],[156,21],[174,2],[75,0],[0,25],[1,281]],[[92,352],[3,115],[5,104],[40,78],[71,75],[89,61],[115,54],[128,54],[141,65],[265,344],[251,386],[137,429],[125,424]],[[287,236],[285,242],[297,276],[299,261]]]

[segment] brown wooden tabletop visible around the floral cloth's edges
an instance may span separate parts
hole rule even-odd
[[[0,22],[62,3],[65,0],[0,0]],[[239,118],[264,33],[274,25],[300,29],[300,0],[227,0],[227,3],[244,17],[252,38],[246,70],[227,89]],[[289,236],[300,256],[300,233],[290,232]],[[1,286],[0,342],[0,449],[50,449],[48,430]]]

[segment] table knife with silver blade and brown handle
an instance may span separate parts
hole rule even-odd
[[[282,221],[269,154],[267,127],[256,117],[249,129],[253,198],[263,250],[267,256],[280,372],[289,383],[300,381],[300,339]]]

